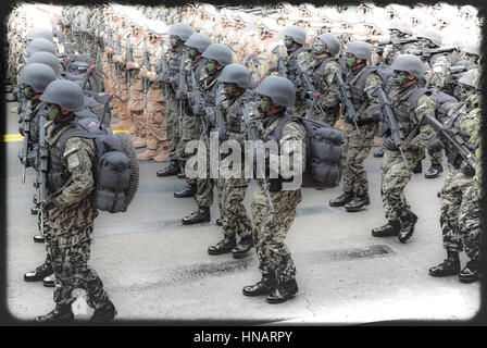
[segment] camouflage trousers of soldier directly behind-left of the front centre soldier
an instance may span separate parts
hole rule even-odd
[[[222,225],[223,234],[232,236],[238,234],[240,237],[247,237],[252,234],[252,223],[247,216],[247,210],[244,206],[249,179],[227,178],[223,181],[222,191]]]

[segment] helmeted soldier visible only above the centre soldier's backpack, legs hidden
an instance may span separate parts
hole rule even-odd
[[[344,74],[337,60],[339,51],[340,41],[329,33],[320,35],[313,44],[313,54],[315,55],[313,82],[317,91],[322,95],[321,105],[326,113],[325,116],[314,111],[313,119],[329,123],[332,126],[340,116],[338,86],[335,78],[336,74]]]

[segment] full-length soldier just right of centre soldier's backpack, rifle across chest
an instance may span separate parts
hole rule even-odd
[[[377,99],[372,94],[383,85],[380,76],[371,67],[372,50],[365,42],[354,41],[347,46],[346,85],[351,91],[352,110],[345,108],[345,130],[341,146],[344,158],[344,194],[329,201],[330,207],[344,207],[349,212],[370,204],[367,175],[363,167],[374,142],[377,120],[373,109]],[[345,96],[344,96],[345,97]],[[345,104],[346,100],[341,100]],[[355,125],[357,122],[357,125]]]

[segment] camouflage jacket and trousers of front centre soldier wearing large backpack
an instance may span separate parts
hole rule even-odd
[[[275,121],[261,137],[266,139],[274,130],[278,121]],[[305,141],[305,133],[301,125],[288,122],[283,128],[280,146],[286,140]],[[303,144],[302,161],[305,159],[305,145]],[[294,158],[291,161],[296,161]],[[295,162],[295,165],[298,163]],[[304,163],[301,163],[304,167]],[[258,186],[253,191],[252,217],[253,243],[259,260],[259,270],[263,277],[276,277],[279,283],[292,281],[296,276],[296,265],[284,239],[296,217],[296,208],[301,202],[301,189],[279,190],[271,192],[275,212],[271,211],[265,192]]]

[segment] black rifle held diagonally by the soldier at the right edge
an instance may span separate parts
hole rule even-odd
[[[465,145],[465,140],[453,130],[446,128],[432,115],[425,114],[423,120],[430,124],[433,129],[435,129],[438,134],[445,146],[447,157],[452,160],[450,163],[452,163],[454,167],[462,171],[464,174],[474,176],[477,161],[475,159],[475,153],[473,153],[472,150]],[[454,163],[454,160],[458,157],[462,159],[460,164]]]

